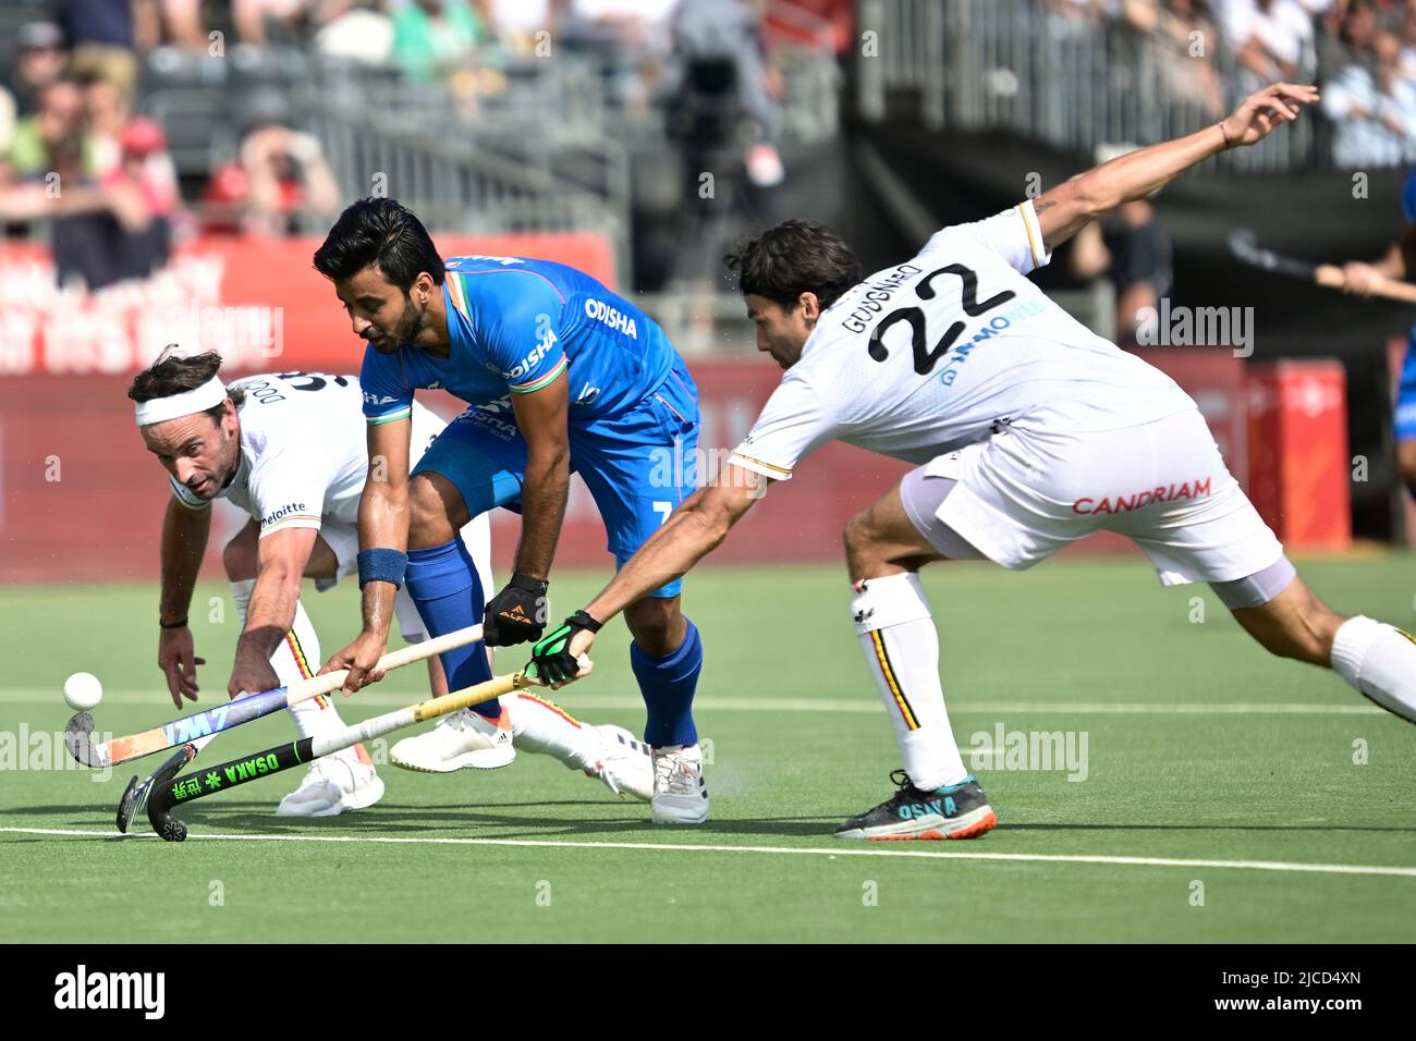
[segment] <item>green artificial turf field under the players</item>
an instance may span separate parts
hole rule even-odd
[[[1408,625],[1413,564],[1300,568],[1340,610]],[[554,609],[600,581],[558,575]],[[523,753],[476,775],[387,766],[378,806],[324,820],[272,816],[292,770],[185,807],[180,846],[113,830],[127,778],[160,756],[95,780],[58,739],[71,715],[59,687],[76,670],[108,690],[98,731],[177,715],[154,664],[156,588],[11,588],[3,939],[1416,940],[1416,727],[1331,673],[1270,659],[1208,589],[1160,591],[1138,559],[1027,575],[947,565],[925,584],[966,762],[974,735],[998,728],[1014,749],[976,761],[1000,824],[974,841],[831,838],[891,795],[898,766],[834,567],[691,576],[712,742],[702,827],[656,827],[647,806]],[[204,585],[197,605],[225,592]],[[353,582],[307,595],[326,654],[353,635],[355,596]],[[218,623],[193,610],[201,705],[231,664],[238,625],[224,606]],[[639,731],[626,642],[606,629],[595,677],[561,694],[581,718]],[[419,669],[341,700],[346,718],[419,700]],[[292,736],[275,715],[197,763]],[[1017,755],[1018,741],[1034,753]],[[1070,762],[1048,762],[1054,748]]]

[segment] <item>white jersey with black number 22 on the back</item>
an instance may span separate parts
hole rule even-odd
[[[731,462],[787,480],[831,440],[925,463],[1001,423],[1109,431],[1194,408],[1025,278],[1049,259],[1031,201],[939,231],[821,313]]]

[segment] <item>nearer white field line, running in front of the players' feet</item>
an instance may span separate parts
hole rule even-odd
[[[96,831],[58,827],[0,827],[0,833],[30,836],[64,836],[84,838],[125,838],[118,831]],[[126,838],[157,838],[153,833],[127,836]],[[1395,867],[1383,864],[1300,864],[1279,860],[1180,860],[1172,857],[1087,857],[1059,853],[944,853],[936,850],[899,850],[874,846],[835,848],[813,848],[792,846],[728,846],[711,843],[568,843],[551,838],[416,838],[385,836],[286,836],[286,834],[193,834],[202,841],[244,843],[384,843],[389,846],[508,846],[554,850],[643,850],[677,853],[755,853],[801,857],[908,857],[913,860],[994,860],[1022,864],[1099,864],[1121,867],[1184,867],[1184,868],[1233,868],[1239,871],[1296,871],[1321,875],[1386,875],[1393,878],[1416,878],[1416,867]]]

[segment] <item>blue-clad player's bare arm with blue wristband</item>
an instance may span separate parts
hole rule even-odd
[[[388,649],[388,629],[394,623],[394,596],[404,581],[408,564],[408,439],[411,415],[368,428],[368,476],[358,500],[360,588],[364,591],[364,627],[354,643],[334,654],[320,673],[348,669],[344,693],[378,683],[384,674],[374,664]],[[370,554],[370,551],[374,551]],[[371,578],[392,568],[395,574]],[[368,572],[368,574],[365,574]]]

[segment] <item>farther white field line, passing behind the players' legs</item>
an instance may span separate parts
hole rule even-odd
[[[561,701],[572,712],[593,715],[602,708],[643,708],[644,702],[639,697],[626,695],[596,695],[593,691],[581,694],[572,688],[571,697],[558,697],[554,691],[547,691],[552,698]],[[372,691],[355,694],[351,698],[334,697],[333,701],[341,708],[358,708],[360,705],[409,705],[421,698],[429,697],[426,691]],[[105,702],[119,704],[147,704],[153,710],[167,705],[169,715],[176,715],[166,697],[154,691],[115,690],[103,694]],[[57,690],[0,690],[0,704],[41,704],[58,708],[61,712],[69,711]],[[200,712],[211,708],[217,701],[202,700],[188,702],[183,707],[183,714]],[[705,697],[694,701],[694,708],[702,712],[844,712],[850,715],[877,715],[881,712],[879,701],[874,698],[837,700],[837,698],[716,698]],[[977,712],[1062,712],[1076,715],[1386,715],[1386,711],[1362,701],[1334,704],[1308,701],[970,701],[967,698],[949,702],[950,714]],[[93,715],[102,721],[103,707],[93,710]]]

